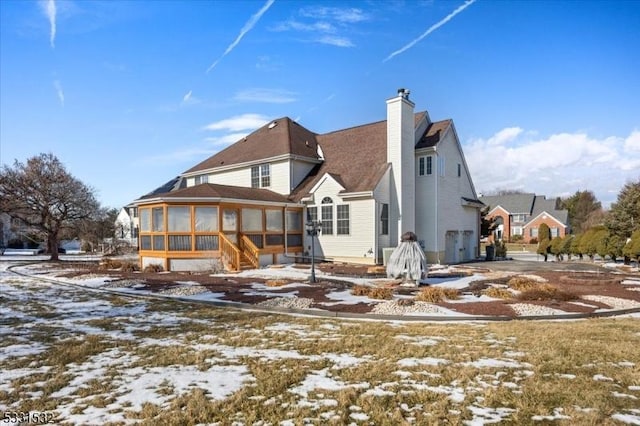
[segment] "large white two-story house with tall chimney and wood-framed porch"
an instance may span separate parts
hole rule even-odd
[[[273,120],[134,201],[142,266],[287,263],[312,241],[321,258],[379,264],[406,231],[429,262],[475,258],[483,204],[453,122],[415,113],[408,90],[386,103],[386,120],[325,134]]]

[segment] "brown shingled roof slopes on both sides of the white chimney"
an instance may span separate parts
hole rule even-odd
[[[424,116],[425,112],[415,114],[415,123]],[[432,123],[423,139],[441,132],[450,123],[451,120]],[[346,192],[372,191],[389,167],[386,120],[317,135],[317,139],[325,161],[293,191],[291,197],[297,201],[307,196],[326,173],[339,177],[336,180]]]

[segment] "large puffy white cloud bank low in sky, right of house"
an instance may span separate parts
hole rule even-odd
[[[606,206],[615,201],[612,187],[622,188],[638,177],[640,155],[629,155],[629,146],[640,139],[637,130],[627,138],[595,138],[584,132],[533,134],[511,127],[465,144],[478,192],[520,189],[555,197],[591,190]]]

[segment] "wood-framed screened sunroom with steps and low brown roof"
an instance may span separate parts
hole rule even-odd
[[[240,270],[291,263],[304,251],[302,207],[268,190],[202,184],[136,205],[142,268]]]

